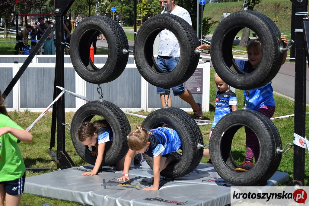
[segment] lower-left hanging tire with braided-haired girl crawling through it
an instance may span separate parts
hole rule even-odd
[[[92,101],[84,104],[74,114],[71,124],[71,139],[79,156],[91,165],[95,165],[97,156],[92,156],[88,146],[77,139],[78,128],[83,122],[91,121],[94,116],[101,116],[108,121],[113,132],[112,143],[106,143],[110,148],[104,152],[101,166],[117,163],[128,152],[127,135],[131,131],[130,123],[125,113],[115,104],[108,101]],[[106,149],[106,148],[105,148]]]

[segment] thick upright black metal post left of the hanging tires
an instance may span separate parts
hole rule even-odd
[[[63,48],[63,15],[66,14],[74,0],[55,0],[56,19],[56,65],[55,65],[55,86],[64,86],[64,48]],[[56,96],[61,90],[56,90]],[[56,102],[53,112],[57,112],[57,169],[66,169],[75,166],[69,155],[66,153],[65,145],[65,121],[64,95]]]

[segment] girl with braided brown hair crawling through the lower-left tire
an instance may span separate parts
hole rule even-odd
[[[97,156],[95,166],[91,172],[84,172],[82,175],[95,175],[104,158],[106,143],[113,140],[112,128],[106,120],[96,120],[94,122],[84,122],[77,132],[78,140],[88,147],[95,146],[95,151],[92,151],[93,156]],[[116,169],[123,169],[124,158],[117,164]],[[135,162],[135,161],[134,161]],[[140,162],[139,162],[140,163]]]

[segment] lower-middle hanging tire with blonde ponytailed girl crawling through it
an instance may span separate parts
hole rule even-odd
[[[171,125],[180,136],[182,155],[178,162],[171,162],[161,176],[179,178],[193,171],[201,162],[203,149],[197,149],[197,144],[203,144],[203,136],[194,119],[185,111],[176,108],[162,108],[151,112],[143,121],[147,129],[158,128],[162,123]],[[147,164],[153,169],[153,157],[143,155]]]

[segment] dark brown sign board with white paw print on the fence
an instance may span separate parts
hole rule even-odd
[[[193,75],[184,82],[184,88],[192,94],[203,94],[203,68],[197,68]]]

